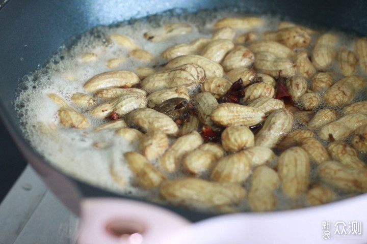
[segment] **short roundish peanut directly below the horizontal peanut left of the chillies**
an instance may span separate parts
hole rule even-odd
[[[138,142],[141,154],[150,160],[155,160],[168,148],[167,135],[158,130],[148,131]]]

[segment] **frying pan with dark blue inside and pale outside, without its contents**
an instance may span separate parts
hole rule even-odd
[[[61,45],[71,45],[77,34],[96,25],[108,25],[173,8],[195,12],[200,9],[224,7],[237,7],[254,14],[271,13],[287,16],[298,23],[337,27],[367,36],[367,15],[365,15],[367,2],[362,0],[5,1],[0,5],[0,115],[21,153],[36,169],[49,188],[75,214],[85,215],[90,212],[98,212],[94,207],[101,197],[109,198],[108,201],[104,202],[106,203],[105,207],[121,203],[126,204],[122,207],[125,210],[135,206],[137,207],[136,212],[145,209],[147,215],[149,215],[149,209],[151,210],[150,214],[162,211],[162,216],[176,221],[176,225],[172,225],[172,228],[173,226],[186,225],[188,221],[197,222],[195,225],[191,225],[195,226],[195,231],[191,230],[191,239],[186,239],[186,243],[197,243],[195,242],[197,237],[201,238],[200,243],[217,243],[216,241],[219,241],[218,243],[244,243],[244,240],[262,242],[274,240],[273,238],[278,238],[278,241],[284,243],[291,241],[318,243],[322,241],[322,221],[367,220],[366,194],[324,206],[268,214],[243,213],[215,217],[212,214],[171,205],[164,205],[164,209],[162,209],[162,206],[156,206],[141,199],[117,195],[62,173],[40,156],[23,137],[13,105],[18,83],[23,75],[29,74],[42,65],[44,60],[50,57],[55,50],[58,50]],[[65,42],[65,40],[68,41]],[[116,210],[115,213],[117,212]],[[173,212],[175,214],[172,214]],[[95,218],[97,217],[95,216]],[[92,223],[92,219],[85,222]],[[169,221],[168,219],[167,221]],[[222,230],[213,232],[219,226]],[[240,226],[243,228],[239,228]],[[357,236],[359,238],[355,240],[348,239],[348,243],[367,242],[367,229],[364,227],[367,226],[367,222],[362,226],[364,235]],[[167,228],[165,229],[167,234],[170,230],[169,226],[166,225],[164,228]],[[306,228],[309,232],[302,228]],[[241,231],[238,231],[239,229]],[[187,232],[185,233],[183,236],[189,238]],[[216,238],[212,238],[213,233],[215,233]],[[179,234],[177,236],[182,237]],[[205,242],[205,236],[211,237],[207,239],[208,242]],[[312,236],[312,240],[310,236]],[[111,241],[115,240],[111,239]],[[89,243],[97,243],[93,241],[96,239],[90,240]],[[104,243],[113,242],[105,241]]]

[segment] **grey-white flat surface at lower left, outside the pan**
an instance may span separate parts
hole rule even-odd
[[[0,205],[0,244],[74,244],[77,224],[28,165]]]

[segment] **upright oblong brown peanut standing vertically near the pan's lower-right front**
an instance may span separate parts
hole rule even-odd
[[[305,150],[291,147],[280,155],[278,173],[284,195],[298,197],[308,188],[310,162]]]

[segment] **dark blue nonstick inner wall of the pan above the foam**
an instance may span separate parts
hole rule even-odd
[[[0,1],[1,2],[1,1]],[[294,0],[10,0],[0,4],[0,115],[14,141],[48,186],[76,214],[82,197],[119,196],[60,173],[42,159],[21,134],[14,96],[22,76],[44,63],[66,39],[96,25],[139,18],[173,8],[190,12],[237,6],[251,13],[273,13],[300,23],[349,29],[367,35],[367,1]],[[8,163],[11,167],[11,162]],[[212,215],[165,206],[191,221]]]

